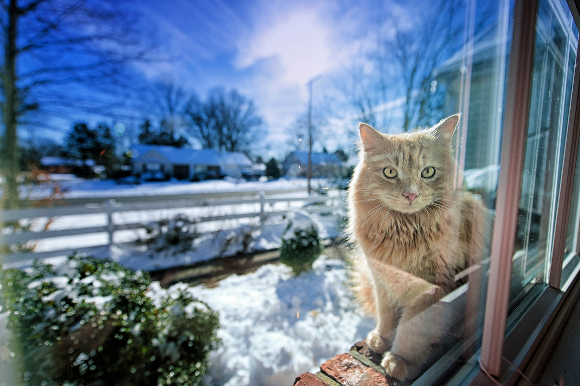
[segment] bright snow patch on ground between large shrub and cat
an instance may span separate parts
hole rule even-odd
[[[293,275],[284,264],[233,275],[215,288],[189,291],[219,312],[223,345],[210,354],[206,383],[288,386],[374,327],[347,286],[347,266],[322,255],[313,270]]]

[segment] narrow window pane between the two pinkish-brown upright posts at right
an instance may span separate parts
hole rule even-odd
[[[545,283],[559,196],[577,40],[570,9],[542,0],[536,19],[534,70],[510,304]]]

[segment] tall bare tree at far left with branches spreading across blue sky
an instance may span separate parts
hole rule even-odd
[[[115,0],[0,3],[6,207],[18,202],[18,127],[27,116],[46,122],[65,110],[96,112],[119,104],[121,98],[113,101],[111,94],[124,96],[119,86],[129,78],[126,64],[146,60],[151,52],[151,45],[142,44],[142,25],[131,9]]]

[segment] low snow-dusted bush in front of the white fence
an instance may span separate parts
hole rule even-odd
[[[151,252],[165,252],[176,255],[189,251],[193,242],[200,236],[195,221],[184,214],[177,214],[172,219],[148,223],[145,226],[146,237],[141,242]]]

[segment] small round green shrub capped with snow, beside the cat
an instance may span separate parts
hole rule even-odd
[[[322,241],[318,237],[318,230],[311,226],[309,229],[294,230],[294,238],[282,237],[280,247],[280,261],[292,268],[294,274],[310,270],[314,260],[324,251]]]

